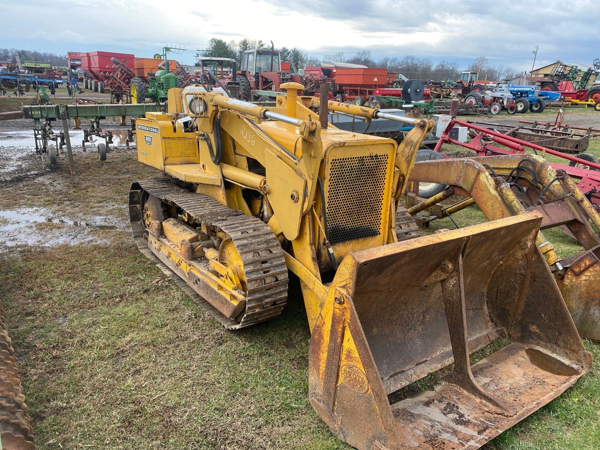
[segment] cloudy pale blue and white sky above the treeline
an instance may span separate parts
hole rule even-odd
[[[368,49],[374,59],[428,56],[466,68],[486,55],[491,65],[531,70],[536,45],[536,66],[600,58],[599,7],[598,0],[11,1],[2,5],[0,47],[152,56],[176,44],[188,49],[177,58],[192,64],[193,50],[212,37],[248,37],[319,58]]]

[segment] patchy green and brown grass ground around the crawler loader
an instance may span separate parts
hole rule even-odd
[[[554,113],[552,113],[553,115]],[[578,113],[579,114],[579,113]],[[600,156],[598,140],[589,152]],[[278,319],[226,331],[145,259],[127,229],[131,181],[158,174],[133,152],[76,155],[0,188],[0,209],[110,214],[104,244],[23,245],[0,254],[0,297],[40,449],[346,449],[308,403],[310,334],[297,283]],[[477,208],[460,226],[484,221]],[[40,241],[49,226],[40,224]],[[452,228],[449,220],[434,228]],[[66,228],[65,228],[66,229]],[[578,250],[547,232],[562,256]],[[600,344],[585,341],[595,361]],[[487,449],[597,449],[600,366]]]

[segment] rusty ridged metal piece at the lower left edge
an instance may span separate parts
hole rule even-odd
[[[0,301],[0,442],[3,450],[33,450],[34,435]]]

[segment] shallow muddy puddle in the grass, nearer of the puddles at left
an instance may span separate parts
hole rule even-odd
[[[46,208],[20,208],[0,211],[0,246],[34,245],[52,247],[58,244],[98,244],[107,239],[95,232],[124,230],[117,218],[94,216],[86,220],[57,217]]]

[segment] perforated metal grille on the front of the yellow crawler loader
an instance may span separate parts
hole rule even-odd
[[[386,154],[331,160],[326,208],[332,245],[380,234],[387,168]]]

